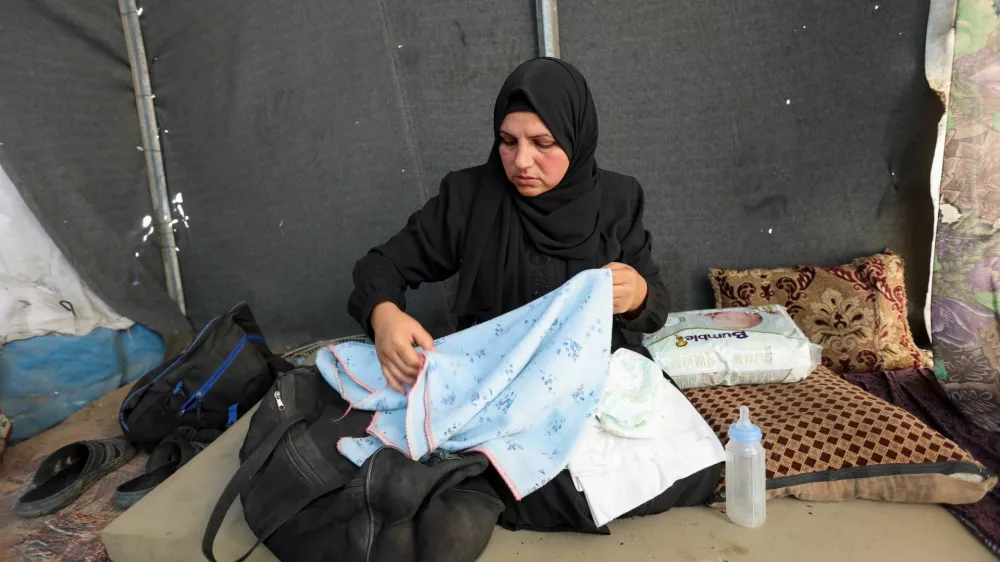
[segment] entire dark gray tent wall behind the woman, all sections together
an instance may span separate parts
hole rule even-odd
[[[0,4],[0,154],[95,291],[174,330],[158,259],[134,257],[149,196],[113,4]],[[141,5],[171,198],[189,217],[175,225],[189,316],[247,300],[278,346],[358,331],[353,262],[447,171],[485,160],[496,91],[537,53],[530,0]],[[892,247],[919,331],[941,114],[923,74],[928,0],[874,6],[559,5],[560,54],[597,98],[599,160],[644,184],[675,309],[711,306],[709,266]],[[410,303],[442,333],[449,297],[424,287]]]

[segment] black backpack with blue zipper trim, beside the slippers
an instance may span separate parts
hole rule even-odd
[[[150,451],[179,428],[224,430],[292,365],[271,353],[246,303],[213,319],[182,353],[146,373],[122,402],[125,437]]]

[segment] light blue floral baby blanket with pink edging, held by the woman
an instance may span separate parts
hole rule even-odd
[[[586,271],[531,304],[435,342],[407,394],[389,388],[370,344],[320,351],[316,365],[352,407],[375,411],[369,437],[340,452],[361,466],[388,446],[414,460],[477,451],[514,497],[566,468],[608,372],[612,282]]]

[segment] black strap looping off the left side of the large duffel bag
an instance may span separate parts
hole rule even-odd
[[[274,428],[267,439],[257,448],[253,454],[247,458],[246,462],[240,466],[236,474],[233,475],[232,480],[226,485],[226,489],[222,491],[222,495],[219,497],[218,503],[215,504],[215,509],[212,510],[212,515],[208,519],[208,525],[205,528],[205,536],[201,542],[201,552],[205,555],[210,562],[217,562],[214,554],[212,553],[212,547],[215,544],[215,537],[219,534],[219,529],[222,527],[222,522],[226,518],[226,513],[229,512],[229,508],[232,507],[233,502],[239,497],[240,493],[246,489],[247,485],[256,476],[257,472],[264,466],[267,459],[271,457],[274,453],[274,449],[277,448],[278,443],[281,442],[281,438],[284,437],[285,433],[297,423],[305,421],[306,416],[304,414],[299,414],[288,418],[281,423],[278,427]],[[335,478],[334,480],[327,482],[326,484],[320,486],[314,490],[311,494],[295,501],[294,503],[285,504],[287,507],[279,511],[279,515],[274,518],[274,523],[270,527],[264,530],[259,537],[257,537],[257,542],[244,554],[239,557],[236,562],[243,562],[253,554],[253,551],[257,550],[264,541],[266,541],[275,531],[281,528],[282,525],[288,522],[289,519],[295,517],[300,511],[306,508],[312,502],[318,500],[319,498],[334,492],[340,488],[343,488],[350,481],[350,476],[340,475],[340,478]]]

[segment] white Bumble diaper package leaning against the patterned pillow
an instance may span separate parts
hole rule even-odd
[[[799,382],[823,351],[778,305],[672,313],[643,344],[681,388]]]

